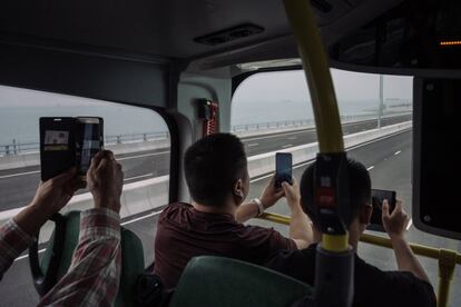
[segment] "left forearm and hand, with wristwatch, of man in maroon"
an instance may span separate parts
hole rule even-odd
[[[284,190],[282,188],[275,188],[274,181],[275,177],[273,176],[259,197],[264,210],[274,206],[284,196]],[[258,205],[255,200],[252,200],[238,206],[235,212],[235,219],[238,222],[245,222],[251,218],[257,217],[259,214]]]

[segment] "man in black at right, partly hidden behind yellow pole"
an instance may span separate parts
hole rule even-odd
[[[349,159],[350,196],[352,220],[349,226],[349,241],[357,250],[359,239],[372,215],[371,180],[366,168]],[[303,209],[317,227],[313,208],[314,165],[311,165],[301,179],[301,202]],[[409,222],[402,201],[398,200],[393,212],[383,204],[382,220],[394,249],[398,271],[383,271],[366,264],[355,255],[354,303],[353,306],[435,306],[435,295],[424,269],[405,241],[404,232]],[[275,255],[266,266],[283,274],[314,285],[316,244],[303,250],[284,250]],[[315,286],[315,285],[314,285]]]

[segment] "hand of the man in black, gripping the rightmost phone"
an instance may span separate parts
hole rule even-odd
[[[410,221],[409,215],[403,210],[403,202],[396,200],[395,208],[392,214],[389,214],[389,202],[384,199],[382,206],[382,221],[385,231],[391,239],[403,238],[406,226]]]

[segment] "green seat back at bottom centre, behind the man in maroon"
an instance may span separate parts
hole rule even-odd
[[[170,307],[281,307],[311,296],[310,286],[248,263],[213,256],[193,258]]]

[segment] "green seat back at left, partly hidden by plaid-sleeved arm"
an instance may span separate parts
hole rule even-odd
[[[56,224],[41,261],[33,255],[37,247],[29,250],[35,286],[40,295],[48,293],[70,267],[80,231],[80,211],[69,211],[56,219]],[[141,241],[133,231],[121,228],[121,275],[115,306],[134,306],[133,288],[144,265]]]

